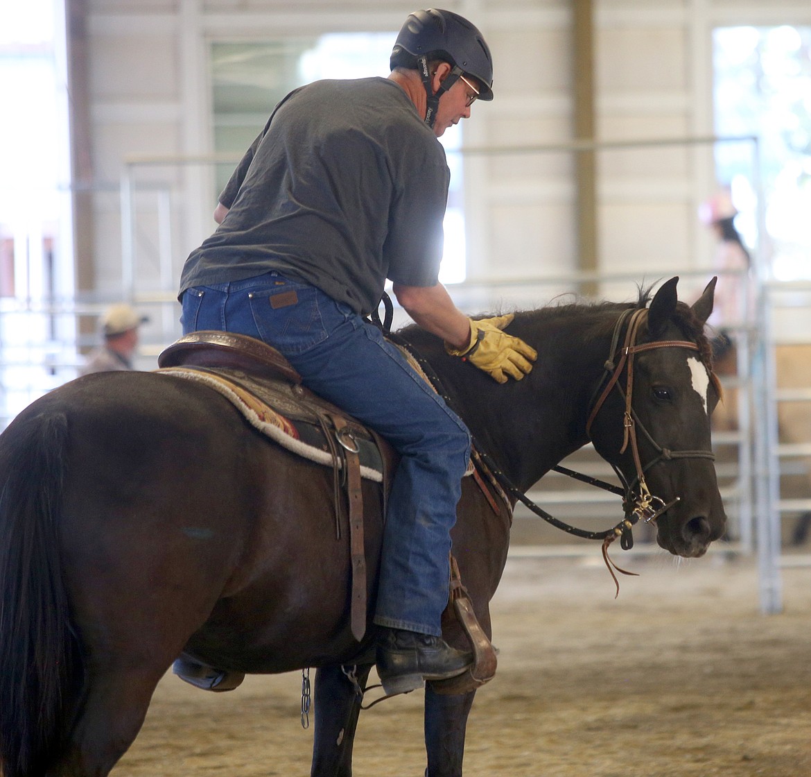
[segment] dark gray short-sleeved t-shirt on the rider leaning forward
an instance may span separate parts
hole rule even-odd
[[[228,214],[183,267],[188,287],[290,274],[375,309],[386,278],[437,283],[448,164],[392,80],[323,80],[282,100],[220,196]]]

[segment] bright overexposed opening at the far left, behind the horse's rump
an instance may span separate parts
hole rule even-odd
[[[75,377],[64,8],[0,8],[0,426]]]

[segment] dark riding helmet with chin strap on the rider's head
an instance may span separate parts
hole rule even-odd
[[[453,66],[440,90],[431,91],[427,63],[441,59]],[[405,19],[391,56],[391,69],[407,67],[420,71],[428,97],[425,121],[433,126],[440,94],[456,83],[459,76],[473,76],[479,84],[479,100],[493,99],[493,59],[482,33],[463,16],[441,8],[414,11]]]

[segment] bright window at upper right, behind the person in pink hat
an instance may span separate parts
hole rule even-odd
[[[811,28],[714,31],[714,111],[719,136],[759,137],[771,272],[811,278]],[[719,183],[732,188],[744,239],[757,241],[750,144],[716,150]]]

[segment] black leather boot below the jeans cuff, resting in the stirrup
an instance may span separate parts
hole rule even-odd
[[[422,688],[425,680],[448,680],[472,665],[472,653],[451,647],[441,637],[381,629],[377,674],[387,696]]]

